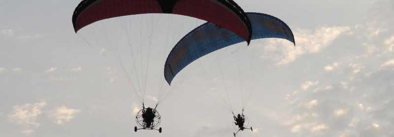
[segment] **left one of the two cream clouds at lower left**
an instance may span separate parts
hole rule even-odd
[[[14,110],[8,115],[8,118],[18,124],[24,126],[38,127],[37,117],[41,114],[41,109],[45,107],[46,102],[35,104],[17,105]]]

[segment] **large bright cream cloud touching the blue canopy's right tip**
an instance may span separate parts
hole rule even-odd
[[[269,39],[264,46],[262,58],[272,58],[276,65],[294,62],[299,56],[317,54],[328,47],[342,34],[348,34],[350,27],[318,27],[313,32],[307,29],[294,31],[296,46],[282,39]],[[285,45],[285,46],[281,46]]]

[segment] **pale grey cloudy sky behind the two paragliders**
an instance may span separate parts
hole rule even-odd
[[[286,22],[296,46],[236,44],[168,86],[166,55],[204,21],[138,15],[75,34],[79,0],[0,0],[0,136],[230,137],[242,107],[254,131],[238,137],[394,136],[393,0],[235,1]],[[138,97],[161,101],[163,133],[134,133]]]

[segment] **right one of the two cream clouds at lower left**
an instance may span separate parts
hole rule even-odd
[[[81,110],[69,109],[66,106],[56,108],[49,113],[49,116],[54,119],[57,125],[64,125],[66,122],[71,121]]]

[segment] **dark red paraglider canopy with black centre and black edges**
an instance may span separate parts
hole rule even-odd
[[[72,23],[77,32],[100,20],[145,13],[195,17],[228,28],[248,43],[252,36],[248,17],[232,0],[82,0],[74,10]]]

